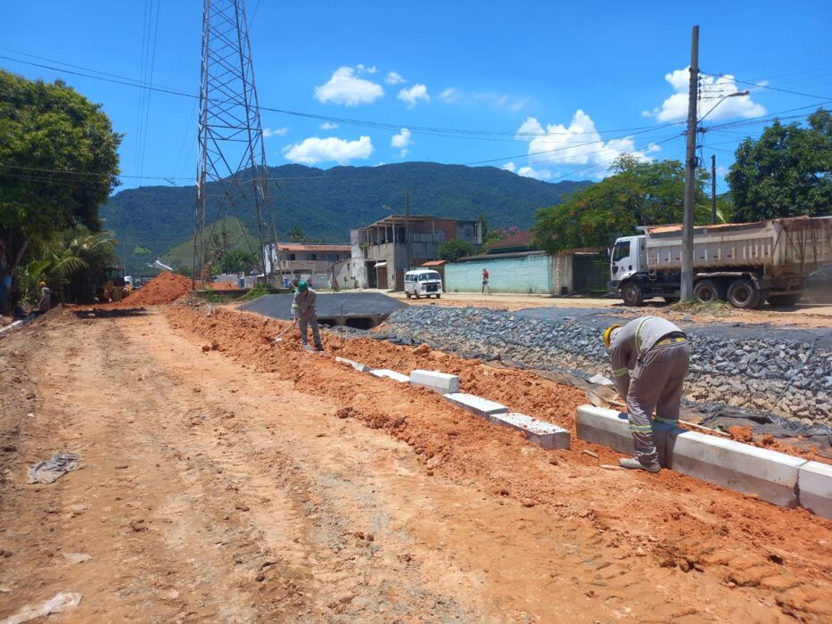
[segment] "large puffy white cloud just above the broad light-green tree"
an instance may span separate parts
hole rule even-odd
[[[636,158],[647,160],[648,153],[661,149],[651,144],[637,150],[631,136],[604,141],[595,129],[595,123],[580,109],[575,111],[568,127],[550,124],[544,128],[540,121],[529,117],[517,129],[516,138],[529,142],[531,164],[608,165],[622,153],[632,153]],[[604,171],[597,175],[603,175]],[[518,175],[522,175],[520,171]]]

